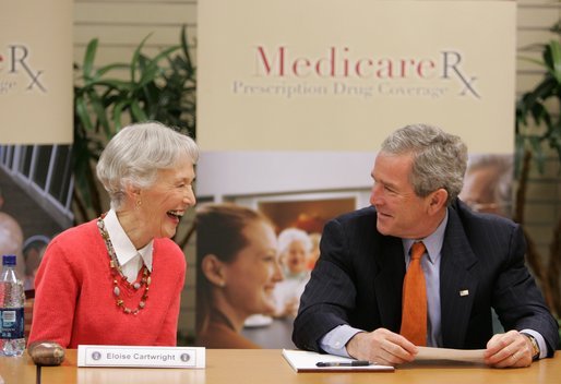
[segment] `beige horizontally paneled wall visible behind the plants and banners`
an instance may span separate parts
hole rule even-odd
[[[539,58],[539,50],[528,51],[525,48],[557,38],[548,29],[561,19],[561,2],[518,0],[516,3],[520,55]],[[136,46],[151,33],[145,52],[152,55],[179,43],[182,24],[188,26],[189,43],[193,48],[193,59],[196,60],[196,0],[74,0],[74,61],[82,62],[85,47],[94,37],[99,38],[96,65],[130,61]],[[522,60],[517,61],[516,73],[516,95],[513,95],[513,103],[515,96],[530,89],[542,76],[538,67]],[[557,157],[550,156],[546,173],[540,175],[534,170],[530,179],[526,207],[527,229],[544,255],[548,254],[551,231],[560,215],[559,171]],[[192,247],[187,251],[187,259],[190,268],[179,323],[180,331],[192,334],[195,279]]]

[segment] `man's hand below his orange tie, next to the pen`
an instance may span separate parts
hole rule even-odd
[[[405,337],[385,328],[360,332],[347,343],[347,352],[358,360],[397,365],[415,360],[417,347]]]

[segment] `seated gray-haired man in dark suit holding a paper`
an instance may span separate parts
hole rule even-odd
[[[525,267],[521,227],[457,199],[466,164],[462,140],[438,128],[408,125],[384,141],[372,206],[324,228],[294,324],[297,347],[384,364],[415,360],[417,346],[399,334],[402,295],[409,250],[422,242],[427,325],[417,345],[486,349],[497,368],[554,353],[558,325]],[[493,336],[491,308],[504,334]]]

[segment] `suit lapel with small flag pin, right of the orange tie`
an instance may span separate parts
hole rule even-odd
[[[477,291],[475,256],[459,216],[449,209],[449,223],[442,244],[440,300],[442,340],[445,347],[462,348]]]

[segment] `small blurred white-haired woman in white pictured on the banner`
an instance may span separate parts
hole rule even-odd
[[[298,228],[286,228],[278,235],[278,253],[285,279],[275,287],[275,316],[296,316],[300,296],[310,278],[308,255],[312,250],[310,236]]]

